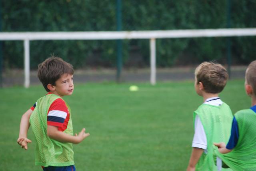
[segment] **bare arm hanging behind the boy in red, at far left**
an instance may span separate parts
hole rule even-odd
[[[27,143],[32,142],[30,139],[27,138],[28,129],[30,127],[29,118],[32,112],[33,112],[32,109],[28,109],[28,111],[26,111],[22,115],[20,120],[20,133],[19,133],[17,143],[26,150],[28,149]]]

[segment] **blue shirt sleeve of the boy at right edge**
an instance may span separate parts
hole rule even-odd
[[[231,150],[234,147],[236,147],[238,138],[239,138],[238,124],[237,124],[236,118],[234,117],[233,121],[232,121],[231,135],[230,135],[229,141],[226,145],[226,148]]]

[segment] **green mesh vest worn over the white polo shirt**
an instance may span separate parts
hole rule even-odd
[[[216,155],[213,154],[214,142],[226,142],[230,136],[233,115],[226,103],[220,106],[202,104],[194,112],[200,118],[207,138],[207,154],[202,153],[196,171],[217,171]],[[225,170],[225,169],[222,169]]]

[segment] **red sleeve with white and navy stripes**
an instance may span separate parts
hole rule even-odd
[[[68,107],[62,99],[56,99],[51,104],[47,114],[47,125],[62,127],[68,115]]]

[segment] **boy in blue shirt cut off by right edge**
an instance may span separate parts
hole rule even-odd
[[[252,107],[235,113],[227,145],[227,141],[214,145],[219,148],[216,154],[232,170],[256,171],[256,60],[246,70],[244,87]]]

